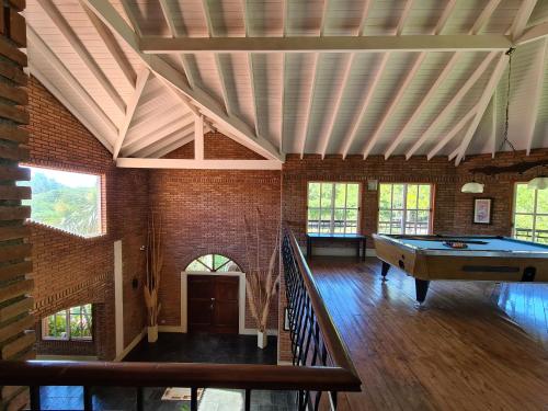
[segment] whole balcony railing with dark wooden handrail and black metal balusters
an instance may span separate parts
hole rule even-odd
[[[197,410],[198,388],[298,391],[299,410],[318,410],[322,392],[336,409],[336,395],[359,391],[361,380],[347,349],[320,296],[316,282],[288,227],[284,227],[283,263],[289,312],[293,366],[114,363],[0,362],[1,386],[30,386],[31,409],[41,409],[41,386],[83,386],[84,410],[92,409],[90,387],[135,387],[137,409],[144,409],[144,387],[191,387],[191,410]]]

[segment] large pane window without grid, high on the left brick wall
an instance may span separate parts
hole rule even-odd
[[[100,175],[30,169],[33,221],[82,237],[102,233]]]

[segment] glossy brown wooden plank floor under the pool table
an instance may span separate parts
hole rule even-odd
[[[377,259],[310,265],[363,381],[341,410],[548,411],[547,285],[432,282],[419,309]]]

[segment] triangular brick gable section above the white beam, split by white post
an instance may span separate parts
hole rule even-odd
[[[187,142],[165,155],[167,159],[193,159],[194,141]],[[204,135],[204,159],[206,160],[263,160],[264,157],[228,138],[218,132]]]

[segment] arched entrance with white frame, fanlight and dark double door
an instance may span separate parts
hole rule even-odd
[[[246,276],[221,254],[193,260],[182,274],[182,326],[186,332],[241,333]]]

